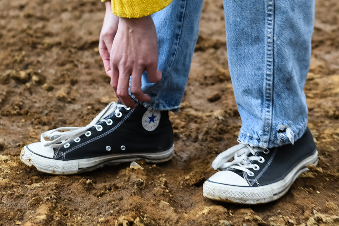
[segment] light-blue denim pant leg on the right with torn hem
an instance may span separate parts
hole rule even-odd
[[[314,0],[224,0],[239,142],[271,148],[303,135],[314,7]]]

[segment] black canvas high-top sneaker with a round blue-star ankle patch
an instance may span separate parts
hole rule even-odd
[[[85,127],[61,127],[41,134],[41,142],[25,146],[21,160],[38,171],[75,174],[108,164],[172,158],[173,130],[168,111],[135,109],[110,103]]]

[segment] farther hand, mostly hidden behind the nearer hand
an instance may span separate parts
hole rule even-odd
[[[111,77],[110,53],[114,36],[117,33],[119,17],[112,13],[111,1],[105,1],[106,13],[99,39],[99,54],[107,76]]]

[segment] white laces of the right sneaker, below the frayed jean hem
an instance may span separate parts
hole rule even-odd
[[[267,149],[251,147],[250,145],[238,144],[230,149],[220,153],[212,163],[212,167],[217,169],[237,169],[246,172],[249,176],[254,176],[254,173],[249,170],[259,170],[260,167],[257,164],[253,164],[252,161],[258,161],[263,163],[265,159],[261,156],[255,156],[256,152],[268,153]],[[253,156],[248,157],[252,153]],[[232,162],[228,162],[234,157]]]

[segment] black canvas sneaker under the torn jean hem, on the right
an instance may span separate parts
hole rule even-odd
[[[213,161],[221,171],[205,181],[203,195],[229,203],[268,203],[283,196],[311,163],[318,163],[318,152],[308,128],[294,145],[262,149],[239,144]]]

